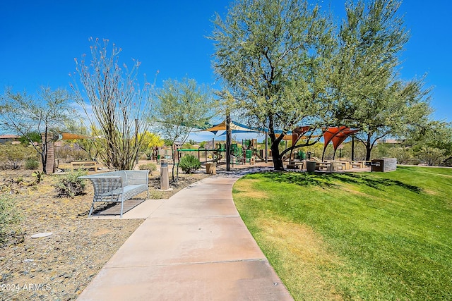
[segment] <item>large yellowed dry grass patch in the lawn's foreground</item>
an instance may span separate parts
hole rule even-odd
[[[343,300],[335,291],[333,275],[340,259],[309,226],[275,219],[258,219],[258,242],[268,256],[277,257],[278,274],[298,300]]]

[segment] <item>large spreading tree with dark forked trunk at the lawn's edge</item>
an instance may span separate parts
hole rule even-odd
[[[330,117],[333,24],[303,0],[237,0],[213,23],[214,68],[234,99],[230,109],[268,129],[274,168],[283,170],[285,133]]]

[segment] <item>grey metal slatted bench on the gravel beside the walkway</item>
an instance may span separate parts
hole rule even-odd
[[[95,202],[120,202],[122,217],[124,201],[141,192],[148,192],[149,197],[148,175],[149,171],[111,171],[81,176],[80,178],[91,180],[94,187],[93,204],[88,217],[93,213]]]

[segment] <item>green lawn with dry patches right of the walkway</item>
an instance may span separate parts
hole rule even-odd
[[[452,168],[256,173],[233,196],[295,300],[452,300]]]

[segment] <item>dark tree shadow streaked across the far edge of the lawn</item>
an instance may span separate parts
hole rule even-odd
[[[321,188],[334,188],[337,181],[367,185],[374,189],[383,190],[388,186],[399,186],[411,192],[420,193],[422,188],[403,183],[399,180],[378,178],[364,173],[294,173],[294,172],[266,172],[260,173],[262,178],[268,178],[279,183],[291,183],[301,186],[318,186]]]

